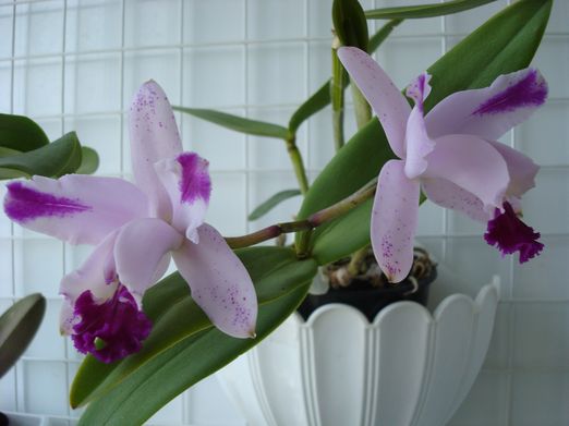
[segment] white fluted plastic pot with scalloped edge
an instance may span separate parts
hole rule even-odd
[[[398,302],[373,324],[341,304],[294,314],[218,378],[250,426],[441,426],[480,372],[498,294],[453,294],[433,315]]]

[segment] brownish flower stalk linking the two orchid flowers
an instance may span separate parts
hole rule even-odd
[[[348,211],[359,206],[367,198],[371,198],[375,194],[376,184],[377,178],[366,183],[361,190],[356,191],[349,197],[343,198],[330,207],[316,211],[307,219],[271,224],[270,227],[264,228],[251,234],[226,238],[226,241],[231,248],[242,248],[271,240],[283,233],[308,231],[305,232],[306,236],[301,240],[301,244],[299,244],[299,247],[296,248],[296,254],[299,257],[306,257],[308,256],[308,253],[306,253],[305,247],[307,246],[306,243],[310,241],[312,233],[310,231],[319,227],[320,224],[346,215]],[[302,241],[304,241],[304,244]]]

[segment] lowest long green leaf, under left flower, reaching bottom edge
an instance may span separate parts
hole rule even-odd
[[[210,328],[182,340],[92,402],[80,425],[142,425],[168,401],[258,344],[294,312],[310,283],[259,307],[256,339],[233,339]]]

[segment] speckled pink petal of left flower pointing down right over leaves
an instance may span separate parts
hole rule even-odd
[[[254,337],[257,297],[247,270],[213,227],[204,223],[197,232],[199,244],[186,240],[173,252],[192,297],[225,333]]]

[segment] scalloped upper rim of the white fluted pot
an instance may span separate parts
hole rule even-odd
[[[465,303],[471,306],[472,311],[477,313],[482,309],[484,305],[484,301],[487,297],[494,297],[496,303],[499,299],[499,279],[495,278],[492,283],[484,285],[479,294],[476,295],[476,299],[472,299],[465,294],[462,293],[455,293],[447,297],[445,297],[438,306],[435,308],[434,314],[431,314],[431,312],[420,305],[415,302],[409,302],[409,301],[401,301],[390,304],[389,306],[386,306],[384,309],[379,311],[377,316],[375,317],[373,322],[370,322],[364,314],[362,314],[359,309],[356,309],[353,306],[344,305],[341,303],[330,303],[324,306],[318,307],[316,311],[314,311],[308,320],[304,321],[304,319],[301,317],[299,313],[294,313],[295,320],[301,325],[301,327],[313,327],[314,322],[318,320],[318,318],[329,312],[332,311],[343,311],[349,312],[351,315],[354,315],[360,318],[366,326],[370,327],[377,327],[380,325],[382,321],[384,321],[386,317],[392,315],[391,312],[399,311],[401,308],[408,308],[408,309],[414,309],[420,313],[420,315],[423,316],[424,320],[428,324],[438,321],[444,313],[456,303]]]

